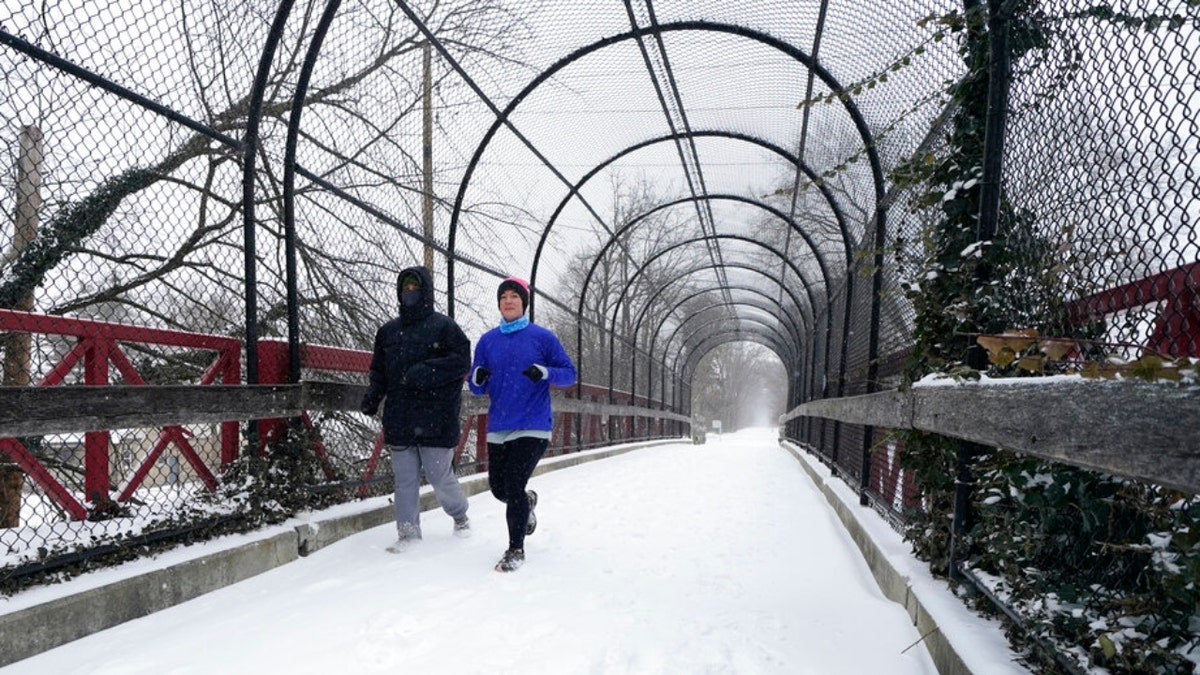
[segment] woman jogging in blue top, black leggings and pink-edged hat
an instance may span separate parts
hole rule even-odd
[[[496,291],[500,324],[475,346],[469,386],[487,394],[487,484],[508,504],[509,548],[497,572],[524,562],[524,538],[538,526],[538,492],[526,490],[538,460],[546,453],[554,413],[550,387],[575,383],[576,371],[563,344],[550,330],[529,323],[529,283],[510,276]]]

